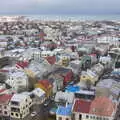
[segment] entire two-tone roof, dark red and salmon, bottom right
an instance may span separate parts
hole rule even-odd
[[[116,104],[107,97],[96,97],[93,101],[76,99],[73,105],[73,112],[106,117],[111,117],[115,109]]]

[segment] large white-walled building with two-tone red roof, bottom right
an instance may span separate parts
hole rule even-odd
[[[116,103],[107,97],[96,97],[93,101],[75,99],[73,120],[113,120]]]

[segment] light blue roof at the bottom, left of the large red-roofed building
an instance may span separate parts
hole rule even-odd
[[[59,106],[57,109],[57,115],[69,116],[71,115],[72,105],[67,105],[67,107]]]

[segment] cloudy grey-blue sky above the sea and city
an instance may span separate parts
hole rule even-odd
[[[120,0],[0,0],[0,14],[120,14]]]

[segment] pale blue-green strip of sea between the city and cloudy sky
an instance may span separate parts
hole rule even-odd
[[[26,15],[30,20],[115,20],[120,21],[120,15]]]

